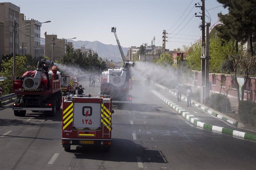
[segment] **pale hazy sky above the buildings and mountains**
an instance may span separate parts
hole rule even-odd
[[[100,41],[117,45],[111,27],[122,47],[151,44],[162,45],[162,33],[166,30],[166,48],[182,48],[191,45],[201,36],[198,28],[200,8],[195,3],[201,0],[11,0],[20,7],[26,19],[40,22],[50,20],[41,27],[44,33],[57,34],[58,38],[73,38],[75,41]],[[205,0],[206,15],[211,18],[211,26],[217,22],[217,14],[227,13],[217,0]],[[218,7],[219,6],[219,7]],[[187,10],[186,10],[187,9]],[[180,18],[181,17],[181,18]],[[180,19],[179,19],[180,18]],[[206,22],[209,19],[206,17]],[[175,24],[176,23],[176,24]],[[175,35],[177,34],[177,35]],[[183,35],[179,35],[183,34]]]

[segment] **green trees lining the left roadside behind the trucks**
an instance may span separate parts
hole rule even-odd
[[[48,58],[46,56],[46,58]],[[16,76],[21,77],[24,72],[34,70],[37,67],[37,62],[42,58],[32,58],[31,55],[16,56]],[[66,48],[66,54],[64,54],[59,61],[59,64],[71,67],[79,67],[82,71],[92,72],[93,69],[100,68],[104,70],[106,68],[105,61],[98,56],[97,53],[89,54],[86,57],[81,50],[74,50],[72,47]],[[65,71],[65,70],[61,70]],[[5,77],[6,80],[1,82],[3,95],[12,93],[13,85],[13,57],[12,55],[3,56],[0,66],[0,76]]]

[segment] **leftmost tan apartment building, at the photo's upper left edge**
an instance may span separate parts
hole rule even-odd
[[[15,52],[19,52],[19,36],[16,36],[15,43],[13,42],[14,22],[16,28],[20,27],[19,13],[20,7],[9,2],[0,3],[0,61],[3,55],[13,53],[13,44]]]

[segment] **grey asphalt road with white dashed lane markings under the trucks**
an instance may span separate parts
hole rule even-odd
[[[99,82],[95,87],[89,87],[88,81],[80,84],[85,93],[99,94]],[[2,107],[0,169],[256,169],[255,142],[196,128],[155,97],[152,88],[161,91],[154,85],[134,85],[132,104],[113,104],[110,152],[80,146],[65,152],[61,145],[62,110],[53,118],[33,112],[16,117],[11,107]],[[177,99],[173,96],[170,100]],[[195,108],[186,109],[192,112]],[[213,124],[223,123],[204,114]]]

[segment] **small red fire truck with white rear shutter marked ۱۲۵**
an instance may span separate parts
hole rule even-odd
[[[70,145],[111,146],[112,97],[70,94],[62,102],[62,146],[66,152]]]

